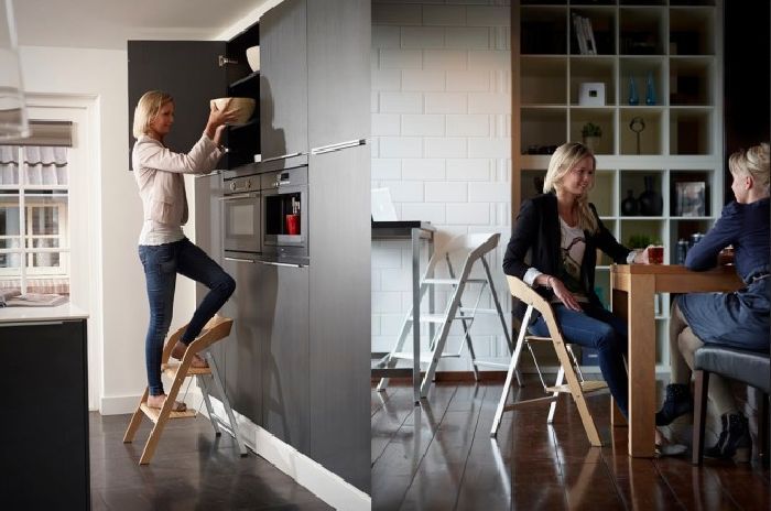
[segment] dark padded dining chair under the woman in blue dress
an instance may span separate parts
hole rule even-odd
[[[761,394],[760,424],[758,425],[758,454],[763,465],[769,458],[769,393],[771,393],[771,358],[767,352],[747,351],[723,346],[704,346],[696,350],[694,373],[696,389],[694,398],[693,459],[701,465],[704,457],[704,426],[707,413],[707,389],[709,374],[720,374],[758,389]]]

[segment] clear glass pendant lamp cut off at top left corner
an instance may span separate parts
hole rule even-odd
[[[30,135],[12,0],[0,0],[0,140]]]

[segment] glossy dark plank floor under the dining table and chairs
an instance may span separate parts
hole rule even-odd
[[[588,400],[607,447],[589,446],[567,396],[552,427],[546,405],[530,406],[504,414],[492,439],[501,390],[437,383],[420,407],[411,387],[372,391],[372,509],[770,509],[769,470],[757,461],[694,468],[687,457],[630,459],[627,430],[611,435],[607,395]],[[517,392],[543,395],[536,382]]]

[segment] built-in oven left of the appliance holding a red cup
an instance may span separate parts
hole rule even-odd
[[[226,256],[262,252],[260,176],[226,180],[222,203],[222,249]],[[232,253],[236,252],[236,253]]]

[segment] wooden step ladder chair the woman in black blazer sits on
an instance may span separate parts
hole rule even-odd
[[[549,416],[546,418],[546,422],[551,424],[554,421],[557,398],[561,393],[569,393],[573,396],[573,401],[576,403],[576,407],[578,409],[580,421],[584,423],[584,430],[586,430],[586,436],[589,438],[589,443],[595,447],[601,446],[602,444],[599,439],[599,434],[597,433],[597,426],[595,426],[595,421],[589,413],[585,398],[588,394],[607,390],[608,385],[605,383],[605,381],[584,380],[578,361],[576,360],[571,346],[565,343],[560,325],[557,325],[556,317],[554,316],[554,311],[549,302],[546,302],[543,296],[537,294],[532,287],[522,282],[520,279],[507,275],[507,280],[509,281],[509,290],[511,291],[511,294],[522,303],[526,304],[528,309],[522,318],[522,326],[520,327],[517,344],[514,345],[514,351],[511,356],[511,362],[509,363],[509,370],[506,376],[503,393],[498,402],[498,409],[496,410],[496,415],[492,420],[490,436],[495,437],[498,434],[498,428],[500,427],[503,412],[512,411],[520,406],[551,403]],[[532,317],[533,311],[541,313],[546,322],[551,337],[528,335],[528,326],[530,324],[530,318]],[[537,343],[551,343],[554,347],[554,351],[557,354],[560,369],[557,370],[556,382],[554,385],[547,385],[545,383],[541,368],[537,365],[537,360],[532,348],[532,345]],[[520,357],[524,346],[528,347],[531,356],[533,357],[535,369],[539,373],[539,378],[541,379],[541,384],[543,385],[544,392],[551,395],[507,404],[509,393],[511,392],[511,383],[519,367]],[[567,383],[565,383],[565,380],[567,380]],[[521,385],[522,382],[521,380],[519,381]]]

